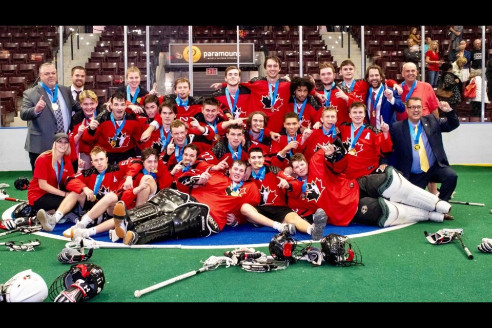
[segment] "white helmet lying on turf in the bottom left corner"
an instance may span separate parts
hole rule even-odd
[[[48,286],[31,269],[19,272],[0,285],[0,302],[43,302],[48,297]]]

